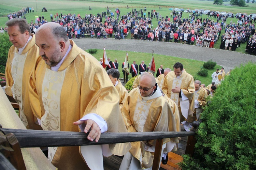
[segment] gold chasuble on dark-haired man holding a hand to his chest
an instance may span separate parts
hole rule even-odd
[[[172,89],[175,88],[175,86],[179,87],[185,96],[180,97],[179,93],[173,93]],[[188,119],[188,117],[193,117],[195,108],[195,82],[193,76],[188,74],[185,69],[183,70],[180,78],[177,78],[174,71],[169,72],[163,80],[162,90],[178,106],[181,122]],[[187,99],[184,100],[183,98]],[[188,122],[189,121],[190,120],[188,119]]]

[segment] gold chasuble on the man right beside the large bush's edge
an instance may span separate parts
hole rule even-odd
[[[202,86],[200,86],[198,91],[195,91],[195,112],[196,112],[197,120],[199,119],[200,113],[203,112],[202,107],[204,107],[207,103],[206,101],[207,97],[208,97],[207,91]]]

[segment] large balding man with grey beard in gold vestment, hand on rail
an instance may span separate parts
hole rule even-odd
[[[42,25],[36,36],[44,61],[31,73],[29,98],[42,128],[89,132],[87,139],[96,142],[104,132],[127,132],[117,90],[100,63],[55,22]],[[129,149],[129,143],[49,147],[48,160],[60,170],[103,169],[102,154],[124,155]]]

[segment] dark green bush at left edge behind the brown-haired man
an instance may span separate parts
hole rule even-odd
[[[5,64],[8,58],[9,48],[12,43],[9,41],[9,36],[7,33],[0,35],[0,73],[5,73]]]

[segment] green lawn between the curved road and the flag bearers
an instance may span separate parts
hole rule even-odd
[[[88,50],[86,50],[88,52]],[[114,59],[117,59],[119,66],[118,70],[120,72],[120,78],[123,78],[123,72],[122,72],[122,63],[125,60],[126,51],[119,51],[119,50],[108,50],[106,49],[106,55],[110,58],[111,61],[114,61]],[[93,56],[100,60],[103,56],[103,49],[98,49],[97,53],[93,54]],[[130,52],[128,51],[128,63],[131,65],[133,61],[136,61],[137,64],[140,64],[142,60],[145,61],[145,64],[148,66],[152,58],[152,53],[143,53],[143,52]],[[197,79],[199,79],[202,83],[204,83],[206,86],[212,82],[212,73],[216,71],[217,68],[221,69],[220,65],[216,65],[214,69],[210,69],[208,71],[207,77],[202,77],[197,75],[196,73],[198,70],[203,68],[203,61],[197,61],[197,60],[191,60],[191,59],[183,59],[178,57],[171,57],[171,56],[165,56],[165,55],[158,55],[154,54],[156,69],[160,67],[160,65],[163,65],[163,68],[171,68],[173,70],[173,65],[176,62],[180,62],[184,65],[184,68],[187,73],[196,76]],[[192,67],[191,67],[192,65]],[[156,73],[155,73],[156,75]],[[128,75],[128,79],[131,78],[131,74]]]

